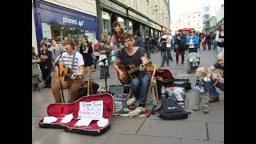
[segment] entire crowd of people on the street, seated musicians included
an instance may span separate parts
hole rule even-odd
[[[42,40],[40,43],[41,49],[38,54],[35,54],[34,47],[32,47],[32,83],[34,90],[40,90],[38,82],[44,81],[44,88],[51,88],[54,95],[55,102],[62,102],[60,90],[70,89],[70,99],[68,102],[74,102],[78,90],[83,86],[81,79],[76,79],[75,75],[70,77],[70,80],[59,82],[60,79],[54,79],[54,82],[51,82],[51,72],[55,70],[55,66],[59,63],[70,67],[73,74],[84,73],[84,69],[90,68],[94,65],[96,69],[96,62],[100,66],[100,79],[110,78],[110,64],[114,63],[114,69],[118,71],[118,77],[122,78],[123,74],[121,70],[118,70],[118,65],[127,65],[134,64],[134,66],[140,66],[141,72],[138,72],[136,76],[131,81],[133,98],[127,101],[127,105],[139,101],[138,108],[132,113],[134,116],[142,113],[145,106],[146,91],[150,83],[150,73],[144,71],[145,64],[150,60],[151,53],[161,52],[162,63],[161,66],[170,66],[170,61],[173,61],[171,50],[174,50],[176,53],[176,63],[178,65],[178,57],[182,57],[182,65],[184,64],[185,59],[185,50],[188,53],[198,53],[202,45],[202,50],[206,50],[206,45],[208,50],[218,51],[218,62],[215,63],[210,68],[200,68],[197,70],[196,75],[198,76],[197,86],[201,86],[204,83],[208,86],[207,82],[214,82],[215,79],[218,80],[218,87],[221,90],[224,90],[224,25],[219,27],[219,30],[214,36],[214,34],[196,34],[194,29],[190,29],[189,33],[185,33],[182,30],[178,30],[176,34],[171,36],[170,30],[163,30],[159,37],[154,36],[150,38],[150,34],[140,35],[139,32],[134,34],[127,33],[118,22],[114,22],[113,25],[114,34],[109,39],[105,33],[100,35],[100,41],[95,41],[94,44],[89,41],[87,36],[84,36],[81,41],[82,45],[75,49],[75,44],[73,40],[67,39],[64,42],[64,46],[57,44],[56,39],[52,38],[50,40],[51,47],[47,49],[47,42]],[[119,48],[122,45],[126,49],[116,57],[108,58],[111,56],[114,47]],[[216,49],[215,49],[216,47]],[[96,54],[97,53],[97,54]],[[108,58],[108,59],[106,59]],[[105,62],[102,60],[105,59]],[[106,70],[105,70],[106,66]],[[219,69],[221,75],[213,74],[213,70]],[[42,72],[42,80],[41,74]],[[208,73],[211,73],[210,81],[206,79]],[[204,79],[205,78],[205,79]],[[205,82],[205,80],[207,80]],[[53,84],[51,84],[53,83]],[[138,87],[142,86],[142,89]],[[141,90],[141,91],[140,91]],[[197,98],[203,98],[206,100],[208,95],[210,100],[206,103],[205,113],[209,112],[207,107],[208,102],[218,102],[218,94],[215,86],[209,89],[209,94],[206,93],[206,89],[197,89],[198,96]],[[198,106],[198,99],[195,101],[196,106]],[[198,107],[194,110],[198,110]]]

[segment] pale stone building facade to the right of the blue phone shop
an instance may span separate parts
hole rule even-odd
[[[96,0],[100,33],[113,34],[112,23],[118,21],[130,34],[158,35],[169,29],[168,0]]]

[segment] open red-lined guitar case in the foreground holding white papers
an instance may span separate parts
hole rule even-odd
[[[90,122],[89,126],[74,126],[78,122],[79,102],[103,101],[103,118],[108,118],[106,126],[99,127],[98,120]],[[114,115],[114,97],[111,94],[94,94],[79,98],[73,103],[52,103],[46,108],[48,116],[58,118],[56,122],[43,123],[43,118],[39,119],[38,126],[41,128],[63,129],[65,132],[76,134],[100,135],[110,129],[110,119]],[[74,118],[68,123],[61,123],[62,118],[67,114],[73,114]]]

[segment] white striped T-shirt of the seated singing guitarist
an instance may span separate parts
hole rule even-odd
[[[84,65],[82,54],[78,53],[78,51],[76,52],[75,58],[74,58],[73,69],[72,69],[73,55],[74,54],[69,55],[69,54],[67,54],[67,52],[65,52],[65,53],[62,54],[62,58],[60,58],[59,62],[62,65],[70,67],[70,69],[72,70],[73,74],[79,74],[79,67],[78,66]]]

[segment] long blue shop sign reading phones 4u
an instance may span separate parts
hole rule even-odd
[[[67,14],[60,14],[50,10],[38,10],[40,12],[41,22],[51,23],[51,24],[58,24],[63,26],[72,26],[77,27],[80,29],[90,29],[96,30],[97,29],[97,22],[95,18],[81,18],[74,17]],[[74,15],[74,14],[73,14]],[[75,14],[80,15],[80,14]],[[83,16],[85,17],[85,16]]]

